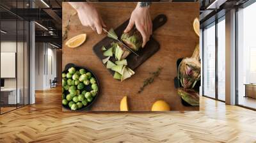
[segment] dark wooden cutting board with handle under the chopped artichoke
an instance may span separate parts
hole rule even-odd
[[[157,15],[157,17],[152,21],[152,23],[153,23],[153,32],[158,27],[163,26],[166,23],[166,21],[167,21],[166,15]],[[127,27],[128,24],[129,24],[129,19],[126,20],[123,24],[121,24],[120,26],[118,26],[114,30],[116,35],[118,36],[118,38],[120,38],[122,36],[122,34],[123,34],[123,32],[124,32],[124,30],[125,30],[125,28]],[[116,40],[113,40],[112,38],[109,38],[108,36],[106,36],[103,40],[99,41],[99,43],[97,43],[93,47],[94,53],[97,55],[97,57],[99,57],[100,60],[106,58],[105,56],[103,56],[104,51],[102,51],[102,46],[107,47],[107,49],[108,49],[109,47],[111,47],[111,43],[113,41],[116,41]],[[138,50],[136,52],[139,56],[136,56],[135,54],[131,53],[126,58],[129,68],[131,68],[132,70],[135,70],[143,62],[145,62],[149,57],[153,56],[159,49],[160,49],[159,43],[154,38],[152,38],[152,36],[151,36],[150,40],[147,42],[145,47],[141,48],[140,50]],[[115,57],[111,57],[110,60],[113,61],[113,63],[115,63]],[[115,73],[112,70],[109,70],[109,72],[112,75],[114,75],[114,73]]]

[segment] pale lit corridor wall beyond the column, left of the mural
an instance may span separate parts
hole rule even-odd
[[[56,49],[48,43],[36,43],[35,47],[35,89],[50,89],[50,80],[56,77]]]

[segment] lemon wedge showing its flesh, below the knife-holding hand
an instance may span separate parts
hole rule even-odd
[[[70,38],[70,40],[68,40],[65,43],[65,45],[67,45],[67,47],[70,47],[70,48],[76,48],[82,45],[85,40],[86,40],[86,34],[79,34],[77,36],[74,36],[73,38]]]

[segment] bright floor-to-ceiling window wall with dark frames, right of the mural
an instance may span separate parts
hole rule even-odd
[[[255,110],[255,8],[252,1],[212,1],[200,11],[203,96],[230,104],[225,91],[231,87],[236,91],[231,105]],[[234,50],[228,49],[230,43]],[[229,68],[231,72],[225,70]],[[234,74],[233,85],[225,80],[228,73]]]

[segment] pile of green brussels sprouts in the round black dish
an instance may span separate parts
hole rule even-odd
[[[98,88],[92,73],[83,68],[69,68],[68,73],[62,73],[62,104],[68,105],[71,110],[81,109],[92,102]]]

